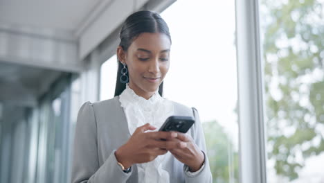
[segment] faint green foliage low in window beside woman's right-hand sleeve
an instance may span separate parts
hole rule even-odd
[[[238,155],[233,150],[233,143],[217,121],[202,124],[213,182],[230,182],[230,177],[238,182]]]

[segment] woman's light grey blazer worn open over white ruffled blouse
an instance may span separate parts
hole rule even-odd
[[[172,103],[176,115],[195,117],[195,125],[188,134],[204,152],[205,166],[200,173],[192,176],[185,173],[186,165],[174,157],[169,158],[164,168],[170,174],[170,182],[213,182],[197,110]],[[98,103],[84,103],[75,128],[71,182],[141,182],[138,180],[136,164],[132,166],[132,171],[124,173],[114,155],[116,149],[126,143],[130,136],[119,96]]]

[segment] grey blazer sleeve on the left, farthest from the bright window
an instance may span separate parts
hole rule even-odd
[[[80,108],[75,127],[71,182],[126,182],[132,171],[125,173],[118,166],[115,150],[100,166],[97,139],[96,116],[87,102]]]

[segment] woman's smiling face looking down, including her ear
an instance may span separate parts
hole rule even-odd
[[[148,99],[159,88],[169,70],[170,46],[169,37],[163,33],[141,33],[127,53],[118,48],[118,58],[128,67],[129,87],[138,96]]]

